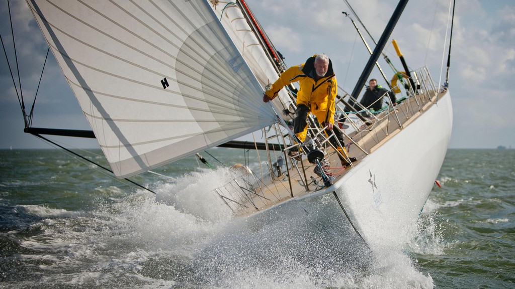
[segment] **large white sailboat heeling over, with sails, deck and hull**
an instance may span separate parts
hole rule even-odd
[[[27,4],[92,132],[30,125],[25,132],[95,137],[119,178],[216,146],[265,150],[265,173],[237,167],[241,176],[212,192],[235,216],[329,195],[366,243],[380,227],[395,230],[418,218],[451,135],[449,89],[422,67],[396,79],[405,84],[396,106],[371,113],[356,102],[407,1],[399,2],[355,92],[337,100],[345,112],[338,120],[344,157],[357,159],[349,167],[341,167],[313,119],[310,138],[296,141],[295,87],[262,101],[286,66],[245,1]],[[262,142],[235,141],[259,130]],[[302,154],[288,155],[293,150]]]

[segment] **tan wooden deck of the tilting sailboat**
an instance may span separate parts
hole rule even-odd
[[[358,164],[369,153],[406,128],[443,95],[444,93],[437,95],[433,91],[420,93],[399,103],[394,107],[395,110],[390,109],[377,114],[375,118],[367,121],[368,125],[357,123],[361,125],[358,130],[352,129],[353,126],[349,125],[345,133],[354,141],[348,146],[349,156],[357,159],[353,165]],[[346,125],[348,124],[346,122]],[[348,145],[348,137],[345,138],[346,145]],[[292,197],[325,190],[322,178],[313,171],[315,165],[310,164],[304,154],[301,155],[302,161],[299,161],[298,158],[286,157],[284,154],[283,157],[287,162],[286,166],[283,166],[281,175],[277,176],[277,171],[271,170],[275,175],[268,182],[258,180],[251,185],[252,182],[243,180],[231,185],[233,190],[236,188],[238,192],[227,193],[227,188],[219,188],[216,192],[236,215],[245,216],[278,205]],[[341,167],[337,153],[331,147],[325,149],[325,159],[329,161],[329,174],[334,178],[333,183],[352,170],[352,166]],[[244,185],[241,182],[247,184]],[[255,189],[255,186],[258,188]]]

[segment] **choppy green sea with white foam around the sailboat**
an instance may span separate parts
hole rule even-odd
[[[99,151],[86,155],[107,166]],[[374,251],[343,233],[345,219],[311,214],[330,213],[330,195],[266,226],[234,220],[212,190],[233,177],[226,167],[259,160],[204,157],[218,169],[191,157],[131,178],[152,193],[62,151],[0,151],[0,286],[515,286],[515,150],[449,150],[405,244]]]

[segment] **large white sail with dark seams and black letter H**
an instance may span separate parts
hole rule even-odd
[[[204,0],[27,3],[116,176],[277,121]]]

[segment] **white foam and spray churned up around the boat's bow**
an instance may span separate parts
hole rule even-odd
[[[226,169],[193,172],[158,182],[157,195],[97,187],[89,212],[20,206],[41,218],[21,241],[20,260],[36,265],[31,274],[42,286],[433,287],[406,254],[438,251],[431,221],[370,250],[349,233],[331,195],[234,220],[211,193],[232,177]]]

